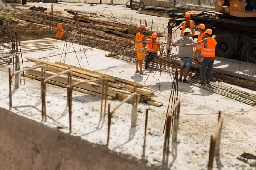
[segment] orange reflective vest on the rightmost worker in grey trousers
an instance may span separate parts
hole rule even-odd
[[[201,56],[204,57],[215,57],[215,48],[216,48],[217,42],[214,38],[208,37],[207,38],[207,47],[202,48]]]

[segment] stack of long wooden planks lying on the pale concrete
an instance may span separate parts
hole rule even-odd
[[[121,79],[118,77],[109,76],[107,74],[102,74],[96,71],[90,71],[84,68],[75,67],[72,65],[67,65],[61,62],[46,62],[41,59],[35,59],[31,57],[25,57],[30,62],[35,62],[36,65],[40,65],[41,62],[47,68],[47,77],[58,74],[61,71],[67,70],[70,67],[72,71],[72,82],[81,82],[89,79],[98,79],[103,76],[108,80],[108,99],[125,99],[134,91],[134,85],[136,86],[136,92],[140,94],[140,102],[145,102],[154,106],[161,106],[163,103],[152,100],[151,98],[157,97],[154,94],[154,90],[147,88],[146,85],[142,85],[137,82],[131,82],[126,79]],[[40,80],[41,68],[36,68],[33,70],[28,70],[24,74],[25,77]],[[67,74],[55,77],[48,81],[50,84],[58,85],[61,87],[67,87]],[[77,85],[74,90],[80,91],[87,94],[92,94],[94,96],[101,96],[102,81],[90,82],[86,84]],[[132,99],[130,100],[132,102]]]

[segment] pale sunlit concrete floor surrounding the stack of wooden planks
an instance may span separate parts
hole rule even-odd
[[[61,48],[64,42],[58,42],[55,44]],[[80,46],[74,44],[76,50],[79,50]],[[89,48],[84,46],[85,49]],[[55,57],[47,57],[49,55],[61,54],[61,50],[56,51],[44,51],[41,53],[25,53],[23,56],[44,58],[49,62],[60,61],[61,55]],[[99,71],[101,73],[109,74],[112,76],[128,79],[134,82],[144,83],[148,75],[135,74],[135,66],[133,63],[126,63],[118,59],[105,57],[104,54],[107,51],[90,48],[86,50],[86,56],[89,62],[85,58],[84,53],[77,53],[80,65],[83,68]],[[82,59],[81,59],[82,55]],[[64,57],[64,56],[63,56]],[[62,58],[63,60],[63,58]],[[66,63],[70,65],[78,66],[75,53],[67,54]],[[24,62],[24,66],[32,66],[32,62]],[[12,66],[10,66],[12,67]],[[149,73],[150,69],[146,70]],[[7,67],[0,68],[1,75],[8,77]],[[155,76],[153,77],[153,75]],[[172,87],[172,78],[169,74],[161,73],[161,83],[159,89],[160,72],[154,70],[145,82],[149,88],[156,91],[158,101],[163,102],[162,107],[155,107],[141,103],[139,105],[139,117],[138,122],[143,123],[145,121],[145,111],[150,109],[148,126],[162,130],[164,126],[164,120],[166,115],[166,109],[168,106],[168,100],[170,95],[170,89]],[[27,79],[26,85],[33,86],[39,89],[40,83],[36,80]],[[248,93],[256,94],[255,91],[233,86],[234,88],[243,89]],[[47,85],[47,93],[56,94],[57,96],[65,96],[66,89],[56,87],[54,85]],[[76,95],[73,95],[73,100],[85,102],[85,105],[99,108],[100,98],[80,92],[74,91]],[[193,140],[201,144],[209,144],[210,135],[214,133],[218,118],[218,111],[222,111],[224,117],[224,127],[221,141],[221,151],[231,154],[233,156],[239,155],[244,151],[256,154],[256,133],[252,129],[256,128],[256,119],[253,117],[256,109],[249,105],[237,102],[233,99],[229,99],[218,94],[206,91],[202,88],[192,86],[190,84],[179,83],[179,98],[181,99],[181,116],[180,116],[180,134],[183,138]],[[108,101],[111,104],[111,108],[118,105],[121,100],[114,99]],[[116,113],[123,117],[130,119],[131,103],[122,105]]]

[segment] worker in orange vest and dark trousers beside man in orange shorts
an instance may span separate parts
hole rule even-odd
[[[161,50],[160,45],[157,41],[157,34],[154,33],[150,37],[151,37],[151,39],[148,40],[148,46],[147,46],[147,49],[146,49],[146,56],[145,56],[145,60],[144,60],[146,65],[145,65],[144,69],[148,68],[149,61],[153,61],[153,59],[155,57],[157,57],[158,50],[160,52],[160,55],[163,56],[162,50]]]

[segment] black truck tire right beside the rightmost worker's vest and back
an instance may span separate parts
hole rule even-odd
[[[216,56],[228,59],[236,58],[236,38],[232,34],[218,34],[214,39],[217,42]]]

